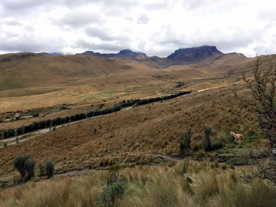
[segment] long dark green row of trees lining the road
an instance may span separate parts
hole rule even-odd
[[[78,114],[72,115],[70,117],[63,117],[63,118],[57,117],[55,119],[34,121],[34,122],[32,122],[32,124],[29,124],[27,126],[20,126],[19,128],[17,128],[17,130],[14,130],[12,128],[12,129],[3,131],[3,138],[6,139],[8,137],[13,137],[15,135],[22,135],[23,133],[32,132],[32,131],[39,130],[42,128],[55,127],[57,125],[67,124],[72,121],[79,121],[79,120],[87,119],[90,117],[107,115],[112,112],[117,112],[117,111],[121,110],[121,108],[126,108],[126,107],[130,107],[130,106],[141,106],[141,105],[153,103],[156,101],[173,99],[175,97],[179,97],[181,95],[186,95],[189,93],[190,93],[190,91],[184,91],[184,92],[177,92],[173,95],[164,96],[164,97],[156,97],[156,98],[150,98],[150,99],[132,99],[132,100],[127,100],[127,101],[120,101],[119,103],[115,103],[115,105],[110,108],[105,108],[102,110],[93,110],[93,111],[87,112],[86,114],[78,113]],[[2,133],[0,132],[0,138],[1,138],[1,136],[2,136]]]

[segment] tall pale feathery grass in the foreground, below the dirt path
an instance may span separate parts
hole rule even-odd
[[[29,182],[2,190],[0,206],[111,206],[95,202],[120,174],[127,188],[114,206],[275,206],[275,188],[264,181],[244,184],[237,170],[207,161],[191,163],[185,175],[182,166],[139,166]]]

